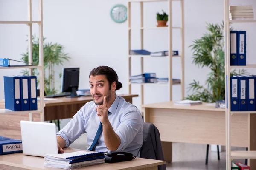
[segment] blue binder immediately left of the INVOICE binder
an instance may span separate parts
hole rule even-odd
[[[238,65],[238,31],[230,31],[230,65]]]

